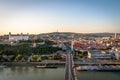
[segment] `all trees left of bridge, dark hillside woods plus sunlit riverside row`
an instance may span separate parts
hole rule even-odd
[[[37,45],[36,47],[31,47],[31,44],[27,43],[21,43],[16,46],[1,44],[0,61],[41,61],[45,58],[40,55],[52,54],[59,50],[62,49],[47,44]],[[52,59],[56,59],[56,57]]]

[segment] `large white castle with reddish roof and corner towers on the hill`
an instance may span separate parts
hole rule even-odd
[[[29,39],[29,34],[11,34],[9,32],[9,41],[19,41],[19,40],[28,40]]]

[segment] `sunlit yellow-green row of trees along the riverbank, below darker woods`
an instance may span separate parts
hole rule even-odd
[[[42,60],[60,60],[62,59],[60,55],[50,55],[50,56],[40,56],[40,55],[31,55],[31,56],[23,56],[21,54],[18,55],[1,55],[0,61],[7,62],[41,62]]]

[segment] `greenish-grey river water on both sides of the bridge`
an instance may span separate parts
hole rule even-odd
[[[65,68],[34,67],[0,68],[0,80],[64,80]],[[78,80],[120,80],[120,72],[77,72]]]

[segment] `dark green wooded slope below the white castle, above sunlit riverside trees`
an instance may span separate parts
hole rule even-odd
[[[56,51],[62,50],[58,47],[52,47],[50,45],[38,45],[36,47],[31,47],[31,44],[19,44],[16,46],[10,45],[0,45],[0,53],[5,55],[31,55],[32,53],[37,55],[51,54]]]

